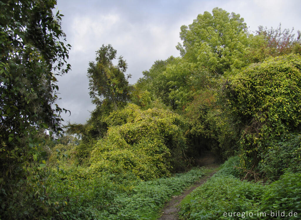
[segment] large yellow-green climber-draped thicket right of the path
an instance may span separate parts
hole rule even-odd
[[[276,150],[278,141],[285,142],[289,132],[300,131],[300,61],[299,55],[276,57],[250,67],[225,85],[223,97],[243,130],[239,144],[244,168],[259,166],[267,172],[262,165],[271,165],[272,158],[266,155]],[[280,160],[287,148],[278,150],[272,160]]]

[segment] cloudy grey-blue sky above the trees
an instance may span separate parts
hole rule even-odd
[[[279,23],[282,29],[301,30],[300,0],[57,0],[56,10],[64,14],[61,26],[72,46],[68,59],[72,70],[58,78],[61,99],[56,103],[71,112],[62,113],[62,118],[84,124],[95,109],[87,69],[103,44],[111,44],[117,57],[123,56],[133,84],[154,61],[180,56],[175,48],[182,43],[180,27],[216,7],[240,14],[250,32],[260,25],[275,29]]]

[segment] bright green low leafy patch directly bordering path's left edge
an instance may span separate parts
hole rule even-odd
[[[172,195],[181,192],[203,175],[202,169],[193,169],[170,178],[141,182],[129,195],[124,194],[113,201],[116,214],[108,215],[107,219],[154,219],[159,208]]]

